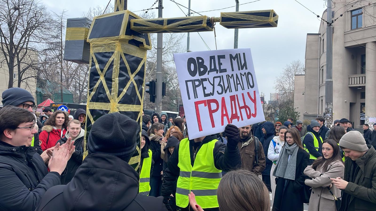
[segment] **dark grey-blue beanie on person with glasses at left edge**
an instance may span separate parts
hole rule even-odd
[[[4,107],[7,105],[18,106],[21,103],[28,101],[33,102],[33,104],[35,105],[33,95],[29,91],[19,87],[13,87],[5,90],[3,92],[2,98],[2,103]]]

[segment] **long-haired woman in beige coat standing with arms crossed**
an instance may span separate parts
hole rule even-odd
[[[322,151],[323,157],[317,158],[304,170],[304,174],[309,176],[305,184],[312,187],[308,211],[335,211],[337,210],[335,197],[341,197],[341,190],[332,185],[330,179],[343,178],[344,175],[345,166],[341,160],[340,148],[335,140],[326,139],[323,142]]]

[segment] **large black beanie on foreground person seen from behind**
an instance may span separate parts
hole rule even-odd
[[[103,115],[91,127],[88,151],[90,154],[114,155],[123,160],[130,158],[136,150],[137,130],[137,122],[126,115],[117,112]]]

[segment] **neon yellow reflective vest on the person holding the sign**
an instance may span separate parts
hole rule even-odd
[[[176,205],[182,208],[188,206],[188,194],[196,195],[196,202],[203,209],[219,207],[217,188],[222,178],[222,171],[214,166],[212,140],[201,146],[197,152],[194,165],[191,165],[190,146],[188,138],[179,143],[179,178],[176,184]]]

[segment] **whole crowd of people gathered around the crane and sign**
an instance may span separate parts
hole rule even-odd
[[[190,139],[185,116],[143,113],[140,128],[109,113],[83,160],[85,110],[35,112],[17,87],[2,98],[0,210],[376,210],[376,124],[361,134],[346,118],[331,128],[289,118]]]

